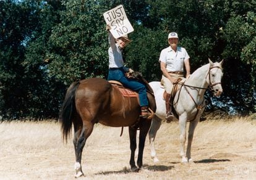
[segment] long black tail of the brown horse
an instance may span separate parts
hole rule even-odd
[[[67,136],[72,128],[72,118],[75,112],[75,92],[80,82],[74,82],[67,89],[66,96],[59,112],[59,120],[61,121],[62,138],[67,142]]]

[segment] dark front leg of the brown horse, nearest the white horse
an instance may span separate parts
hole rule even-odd
[[[148,134],[148,129],[150,129],[151,122],[149,120],[143,120],[140,125],[140,139],[139,139],[139,154],[137,159],[137,165],[139,168],[143,165],[143,151],[145,147],[145,140]]]

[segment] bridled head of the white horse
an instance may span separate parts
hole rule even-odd
[[[222,72],[223,60],[221,60],[221,62],[213,63],[209,59],[209,63],[210,63],[210,68],[208,72],[207,82],[211,90],[214,92],[214,95],[220,96],[221,93],[223,92],[223,89],[221,86],[221,78],[223,76],[223,72]]]

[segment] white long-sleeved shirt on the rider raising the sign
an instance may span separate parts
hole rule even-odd
[[[120,68],[124,66],[124,60],[122,59],[122,51],[116,44],[116,41],[109,33],[108,43],[110,45],[108,49],[109,68]]]

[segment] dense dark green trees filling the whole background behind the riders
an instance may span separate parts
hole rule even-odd
[[[0,1],[0,115],[58,118],[73,81],[106,78],[108,33],[103,13],[122,4],[134,27],[127,66],[148,81],[176,31],[192,72],[224,59],[223,95],[207,92],[208,110],[255,113],[256,2],[240,0]]]

